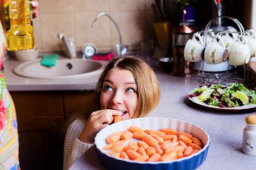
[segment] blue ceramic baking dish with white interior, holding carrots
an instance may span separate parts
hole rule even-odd
[[[176,129],[178,131],[184,131],[192,134],[194,137],[200,139],[203,144],[203,148],[184,158],[164,161],[164,162],[137,162],[134,160],[124,160],[121,158],[115,158],[108,155],[108,151],[102,148],[107,145],[105,142],[108,135],[115,131],[123,131],[129,129],[130,126],[139,126],[144,129],[159,130],[162,128]],[[106,169],[196,169],[207,158],[207,152],[209,148],[210,138],[207,132],[201,129],[199,126],[191,124],[189,122],[176,120],[172,118],[161,117],[145,117],[145,118],[133,118],[130,120],[121,121],[112,124],[102,129],[95,137],[95,147],[98,159]]]

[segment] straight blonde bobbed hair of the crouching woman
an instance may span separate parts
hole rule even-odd
[[[96,87],[98,104],[100,105],[100,94],[102,83],[110,69],[118,67],[131,71],[134,76],[138,89],[138,104],[134,114],[134,118],[146,116],[158,105],[160,100],[160,87],[158,79],[154,71],[142,59],[127,56],[125,58],[114,58],[105,67],[103,73],[98,80]]]

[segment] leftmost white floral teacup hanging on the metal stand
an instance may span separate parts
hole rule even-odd
[[[199,39],[197,40],[196,37]],[[202,60],[202,53],[205,48],[203,39],[199,33],[194,33],[185,45],[184,58],[188,62],[199,62]]]

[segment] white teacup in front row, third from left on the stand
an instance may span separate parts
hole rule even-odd
[[[249,62],[251,56],[250,48],[245,45],[246,38],[243,35],[237,37],[232,45],[231,52],[229,54],[229,64],[233,66],[241,66]]]

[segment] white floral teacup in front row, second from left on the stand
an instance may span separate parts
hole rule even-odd
[[[219,39],[220,43],[217,41]],[[204,60],[208,64],[217,64],[228,59],[228,50],[220,35],[214,36],[213,41],[209,42],[205,48]]]

